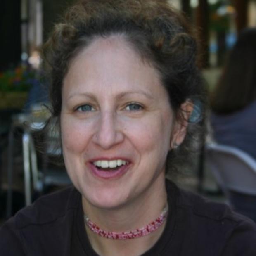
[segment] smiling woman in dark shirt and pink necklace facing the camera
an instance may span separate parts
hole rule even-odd
[[[4,255],[255,255],[249,219],[165,180],[202,93],[183,18],[165,1],[86,0],[49,48],[53,116],[75,188],[11,218]]]

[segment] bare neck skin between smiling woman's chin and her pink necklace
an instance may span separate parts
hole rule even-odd
[[[166,206],[167,194],[164,181],[161,185],[151,185],[150,191],[146,190],[132,201],[111,209],[82,200],[83,211],[92,222],[104,230],[123,232],[145,226],[159,217]]]

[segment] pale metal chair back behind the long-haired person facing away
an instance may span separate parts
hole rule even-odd
[[[205,160],[228,203],[256,221],[256,159],[235,147],[206,143]]]

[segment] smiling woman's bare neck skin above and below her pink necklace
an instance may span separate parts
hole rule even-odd
[[[88,218],[96,223],[101,229],[114,232],[127,232],[142,228],[158,218],[166,206],[167,195],[165,183],[157,186],[161,189],[150,190],[142,193],[129,204],[115,209],[101,209],[88,204],[83,199],[83,209]],[[131,240],[111,240],[100,237],[92,232],[87,226],[86,231],[90,243],[99,255],[120,255],[127,249],[125,255],[140,255],[147,251],[161,236],[166,221],[157,230],[149,235]]]

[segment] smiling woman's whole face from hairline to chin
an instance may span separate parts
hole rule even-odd
[[[96,39],[72,60],[62,90],[62,147],[86,203],[113,209],[163,191],[178,129],[156,69],[120,36]]]

